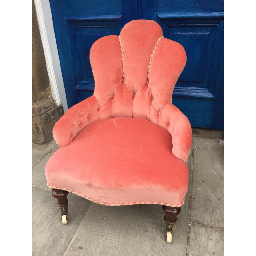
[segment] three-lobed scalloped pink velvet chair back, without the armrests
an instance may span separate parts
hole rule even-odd
[[[101,37],[92,45],[90,62],[100,119],[138,117],[169,128],[168,105],[186,52],[164,38],[155,21],[133,20],[120,36]]]

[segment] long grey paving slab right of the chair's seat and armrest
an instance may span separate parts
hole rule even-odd
[[[224,163],[221,140],[194,138],[191,221],[224,228]]]

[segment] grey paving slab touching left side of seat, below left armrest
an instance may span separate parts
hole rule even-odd
[[[47,187],[46,177],[44,174],[44,167],[47,163],[47,161],[50,159],[52,154],[58,150],[59,147],[56,145],[50,153],[48,153],[44,158],[36,164],[36,166],[32,169],[32,185],[38,186],[38,187]]]

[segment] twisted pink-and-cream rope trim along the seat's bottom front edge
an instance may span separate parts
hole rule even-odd
[[[72,194],[84,197],[85,199],[87,199],[89,201],[92,201],[93,203],[97,203],[97,204],[101,204],[101,205],[106,205],[106,206],[124,206],[124,205],[134,205],[134,204],[160,204],[160,205],[166,205],[166,206],[170,206],[170,207],[181,207],[184,204],[184,199],[183,199],[181,204],[167,204],[167,203],[160,203],[160,202],[134,202],[134,203],[111,204],[111,203],[104,203],[104,202],[100,202],[100,201],[94,200],[94,199],[92,199],[92,198],[90,198],[88,196],[84,196],[84,195],[82,195],[82,194],[80,194],[78,192],[75,192],[74,190],[71,190],[71,189],[60,188],[60,187],[52,187],[48,183],[47,183],[47,186],[49,188],[52,188],[52,189],[60,189],[60,190],[68,191],[68,192],[70,192]]]

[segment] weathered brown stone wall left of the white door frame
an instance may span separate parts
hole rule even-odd
[[[46,68],[44,49],[32,0],[32,141],[43,144],[52,139],[54,124],[63,115],[63,107],[56,106]]]

